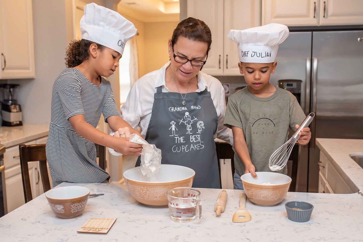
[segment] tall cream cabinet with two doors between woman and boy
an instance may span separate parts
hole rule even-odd
[[[209,75],[240,75],[237,44],[231,29],[261,25],[261,2],[254,0],[188,0],[187,16],[204,21],[211,29],[212,46],[202,71]]]

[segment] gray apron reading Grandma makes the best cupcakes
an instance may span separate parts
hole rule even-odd
[[[183,94],[184,95],[184,94]],[[145,140],[161,149],[162,164],[176,164],[195,171],[193,187],[220,188],[216,145],[213,134],[218,116],[211,93],[187,93],[156,89]],[[140,157],[136,166],[140,166]]]

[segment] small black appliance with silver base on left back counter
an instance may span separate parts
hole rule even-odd
[[[21,107],[17,103],[17,91],[19,84],[0,84],[3,94],[1,103],[1,116],[3,117],[3,126],[19,126],[21,122]]]

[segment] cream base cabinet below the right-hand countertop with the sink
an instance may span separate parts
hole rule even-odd
[[[322,152],[320,152],[319,168],[319,193],[354,193]]]

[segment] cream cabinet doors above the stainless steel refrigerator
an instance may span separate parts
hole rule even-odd
[[[359,25],[361,0],[262,0],[262,25],[287,26]]]

